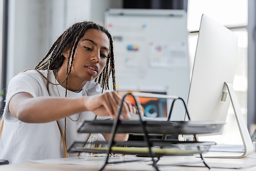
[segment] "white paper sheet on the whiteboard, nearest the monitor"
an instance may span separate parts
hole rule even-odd
[[[186,42],[150,43],[150,66],[156,68],[187,68]]]

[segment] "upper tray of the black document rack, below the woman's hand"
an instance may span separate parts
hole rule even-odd
[[[214,121],[144,121],[147,134],[210,134],[218,133],[225,122]],[[113,120],[84,121],[79,133],[111,133]],[[143,134],[140,120],[121,120],[116,133]]]

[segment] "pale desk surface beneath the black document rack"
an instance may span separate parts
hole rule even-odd
[[[168,156],[163,157],[158,162],[158,164],[170,164],[170,163],[178,163],[178,162],[188,162],[188,161],[197,161],[200,158],[196,158],[194,156]],[[215,165],[215,166],[223,166],[226,165],[228,167],[236,167],[236,166],[247,166],[247,165],[255,165],[256,164],[256,153],[254,152],[252,155],[242,158],[242,159],[205,159],[207,164]],[[151,165],[148,165],[151,162],[133,164],[129,166],[110,166],[107,165],[103,170],[156,170]],[[48,170],[48,171],[62,171],[62,170],[98,170],[100,165],[70,165],[70,164],[40,164],[40,163],[23,163],[23,164],[13,164],[13,165],[2,165],[0,166],[1,171],[40,171],[40,170]],[[162,166],[159,167],[161,171],[163,170],[186,170],[186,171],[206,171],[209,170],[207,167],[184,167],[184,166]],[[223,169],[223,168],[211,168],[212,170],[237,170],[237,171],[247,171],[247,170],[256,170],[255,167],[243,168],[243,169]]]

